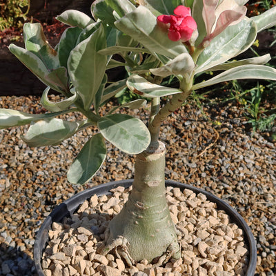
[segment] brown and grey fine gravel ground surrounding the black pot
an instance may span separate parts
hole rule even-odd
[[[38,100],[0,97],[0,108],[44,112]],[[234,104],[204,112],[218,124],[190,105],[164,124],[166,179],[204,188],[234,206],[257,241],[256,275],[276,275],[276,144],[252,135]],[[0,275],[36,275],[34,237],[57,204],[87,187],[133,174],[133,157],[108,144],[97,175],[86,186],[71,185],[68,166],[95,130],[83,130],[60,146],[30,148],[20,139],[26,129],[0,130]]]

